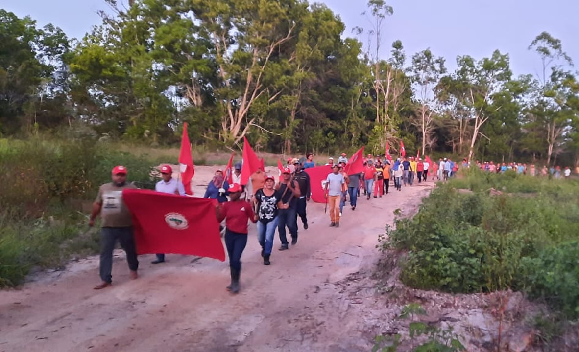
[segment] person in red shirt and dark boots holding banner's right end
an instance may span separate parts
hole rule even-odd
[[[225,247],[229,256],[231,283],[226,287],[234,294],[239,292],[241,276],[241,254],[247,245],[247,220],[256,223],[258,217],[247,201],[242,201],[240,184],[234,183],[229,190],[230,202],[218,203],[215,207],[217,221],[225,219]]]

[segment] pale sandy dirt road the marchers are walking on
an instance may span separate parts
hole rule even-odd
[[[210,176],[197,169],[197,194]],[[92,290],[98,258],[73,263],[0,292],[0,351],[368,351],[373,336],[351,309],[361,303],[336,283],[373,265],[393,211],[412,212],[432,185],[359,199],[339,229],[328,227],[324,205],[310,202],[309,229],[299,225],[288,251],[277,250],[276,234],[271,266],[250,227],[238,295],[225,290],[227,262],[207,258],[168,254],[152,265],[154,256],[142,255],[140,277],[130,281],[119,251],[114,284],[101,291]]]

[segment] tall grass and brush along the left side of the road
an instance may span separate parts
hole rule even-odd
[[[0,192],[0,287],[98,249],[85,214],[119,164],[139,187],[153,186],[150,162],[106,143],[0,139],[0,182],[9,185]]]

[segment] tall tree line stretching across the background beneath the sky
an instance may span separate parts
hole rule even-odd
[[[75,123],[97,135],[173,144],[188,121],[195,144],[334,153],[445,151],[482,160],[576,164],[579,85],[562,43],[529,38],[543,62],[514,77],[510,58],[406,60],[397,40],[379,57],[394,9],[368,3],[369,39],[305,0],[106,0],[102,24],[78,41],[0,10],[0,135]],[[395,16],[395,14],[394,14]],[[531,41],[532,40],[532,41]],[[361,42],[368,42],[362,46]]]

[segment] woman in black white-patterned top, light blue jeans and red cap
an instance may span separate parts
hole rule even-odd
[[[265,177],[265,187],[255,192],[254,202],[258,208],[257,236],[261,246],[263,265],[270,265],[273,238],[277,228],[278,203],[281,193],[274,189],[276,179],[273,176]]]

